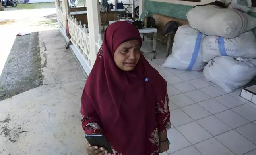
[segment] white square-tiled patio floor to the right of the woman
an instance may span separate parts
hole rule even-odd
[[[152,51],[144,41],[142,51]],[[149,63],[168,82],[172,128],[170,149],[161,155],[256,155],[256,104],[240,90],[221,91],[203,72],[163,68],[166,46],[157,43],[157,59]]]

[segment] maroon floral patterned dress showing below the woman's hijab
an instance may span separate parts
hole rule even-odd
[[[156,114],[156,125],[155,130],[152,131],[151,136],[148,138],[148,142],[146,142],[147,148],[152,148],[151,150],[155,150],[151,152],[149,155],[159,155],[159,132],[166,132],[171,128],[170,122],[170,110],[168,106],[169,98],[168,95],[165,96],[164,100],[161,100],[160,103],[155,105],[155,114]],[[89,117],[82,116],[82,127],[85,134],[102,134],[102,130],[99,125],[93,121],[90,122]],[[90,122],[90,123],[88,123]],[[111,145],[111,144],[110,144]],[[114,146],[111,146],[113,153],[109,155],[122,155],[121,152],[117,152],[114,150]]]

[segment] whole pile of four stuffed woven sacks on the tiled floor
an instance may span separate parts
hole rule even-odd
[[[204,69],[204,76],[227,93],[256,76],[256,18],[215,5],[192,8],[190,26],[180,26],[172,54],[162,65],[178,70]],[[208,63],[206,65],[206,63]]]

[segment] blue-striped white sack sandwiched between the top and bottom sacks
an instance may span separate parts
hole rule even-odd
[[[256,58],[256,38],[252,31],[245,32],[236,38],[206,36],[202,44],[203,61],[217,56]]]

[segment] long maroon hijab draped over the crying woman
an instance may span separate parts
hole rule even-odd
[[[95,120],[122,155],[148,155],[156,129],[155,106],[166,95],[167,82],[141,54],[134,70],[120,70],[114,51],[126,40],[142,43],[138,29],[125,21],[111,24],[89,74],[81,99],[81,113]],[[148,80],[146,80],[148,79]]]

